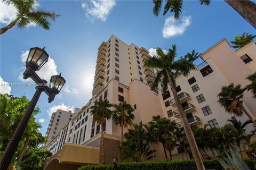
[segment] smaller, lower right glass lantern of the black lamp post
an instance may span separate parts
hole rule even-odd
[[[56,92],[56,94],[59,94],[61,88],[64,86],[65,83],[66,80],[61,77],[61,73],[60,75],[53,75],[50,80],[50,89]]]

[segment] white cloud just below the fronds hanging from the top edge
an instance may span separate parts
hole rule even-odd
[[[174,16],[165,19],[163,36],[170,38],[175,35],[182,35],[191,24],[191,16],[182,16],[180,20],[175,20]]]

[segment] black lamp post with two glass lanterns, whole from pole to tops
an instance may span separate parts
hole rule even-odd
[[[36,103],[41,93],[44,91],[47,96],[49,96],[48,102],[51,103],[54,100],[54,97],[59,94],[61,88],[66,82],[65,79],[61,77],[61,73],[60,75],[53,75],[51,77],[49,86],[46,80],[42,80],[41,78],[39,78],[35,71],[41,69],[41,67],[47,62],[48,58],[49,55],[45,52],[44,48],[30,48],[29,55],[26,61],[27,68],[23,73],[23,78],[31,78],[33,81],[35,81],[35,83],[37,84],[36,92],[28,105],[26,113],[22,116],[20,123],[12,136],[12,139],[10,140],[8,146],[4,151],[4,155],[1,159],[0,165],[1,170],[6,170],[8,168],[12,160],[13,154],[17,149],[22,133],[24,132],[28,124],[29,118],[35,109]]]

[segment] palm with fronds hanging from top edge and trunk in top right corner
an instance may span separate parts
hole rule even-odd
[[[205,5],[210,4],[210,0],[199,0],[199,2]],[[225,2],[234,8],[236,12],[238,12],[243,18],[248,21],[252,27],[256,28],[256,4],[252,1],[233,1],[233,0],[225,0]],[[158,16],[159,12],[162,8],[163,0],[153,0],[155,4],[153,8],[154,15]],[[178,19],[180,16],[180,12],[182,9],[182,0],[166,0],[166,4],[164,6],[164,13],[165,15],[169,10],[170,12],[174,12],[174,18]]]

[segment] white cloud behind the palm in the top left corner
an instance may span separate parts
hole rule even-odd
[[[39,3],[35,1],[34,8],[39,7]],[[3,1],[0,1],[0,23],[2,24],[9,24],[11,23],[15,18],[17,18],[17,10],[16,8],[10,4],[6,5]],[[27,25],[27,27],[35,27],[35,23],[30,23]]]

